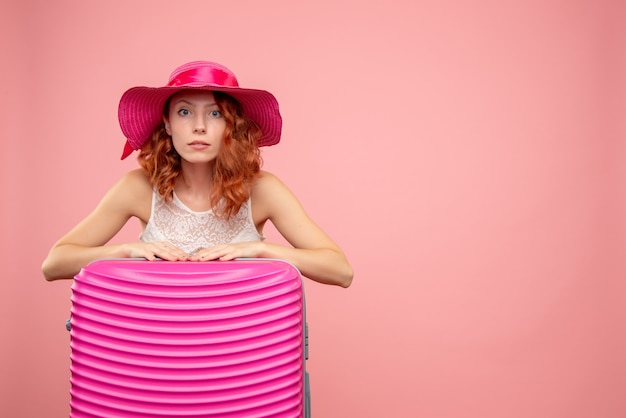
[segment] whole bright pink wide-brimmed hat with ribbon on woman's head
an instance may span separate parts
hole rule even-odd
[[[163,121],[165,102],[182,90],[221,91],[241,104],[243,113],[259,125],[258,146],[280,141],[282,118],[278,101],[265,90],[239,87],[235,74],[223,65],[193,61],[176,68],[164,87],[133,87],[120,99],[118,118],[126,137],[122,159],[140,149]]]

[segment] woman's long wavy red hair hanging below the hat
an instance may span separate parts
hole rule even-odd
[[[211,206],[217,216],[229,219],[239,212],[250,197],[252,181],[261,170],[261,154],[257,141],[261,130],[251,119],[244,116],[239,102],[225,93],[213,92],[215,101],[226,121],[222,148],[213,168]],[[169,112],[169,100],[163,109]],[[174,149],[164,123],[146,141],[137,161],[148,175],[150,182],[165,200],[173,197],[174,185],[181,176],[181,158]]]

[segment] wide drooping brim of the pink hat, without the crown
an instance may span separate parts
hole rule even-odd
[[[163,120],[163,108],[167,99],[183,90],[220,91],[239,102],[244,115],[259,125],[260,147],[275,145],[280,141],[282,118],[278,101],[265,90],[244,89],[193,84],[177,87],[133,87],[120,99],[118,119],[127,143],[122,154],[126,158],[133,150],[140,149]]]

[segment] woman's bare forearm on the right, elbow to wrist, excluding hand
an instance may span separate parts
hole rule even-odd
[[[300,249],[264,242],[259,257],[288,261],[303,276],[319,283],[341,287],[348,287],[352,283],[352,267],[345,256],[334,249]]]

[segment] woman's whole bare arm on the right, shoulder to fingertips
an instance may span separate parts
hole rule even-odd
[[[350,286],[353,272],[341,249],[311,220],[297,198],[277,177],[261,173],[252,189],[252,211],[257,225],[269,219],[293,247],[268,242],[220,245],[194,258],[277,258],[289,261],[304,276],[317,282]]]

